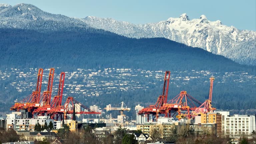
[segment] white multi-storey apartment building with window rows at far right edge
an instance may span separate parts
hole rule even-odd
[[[256,130],[255,116],[229,115],[227,111],[218,111],[222,115],[222,134],[239,138],[241,135],[250,135]]]

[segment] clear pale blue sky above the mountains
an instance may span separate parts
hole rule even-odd
[[[171,1],[171,0],[0,0],[16,5],[33,4],[43,11],[69,17],[108,17],[134,24],[145,24],[179,17],[187,13],[190,19],[206,15],[210,21],[256,31],[256,0]]]

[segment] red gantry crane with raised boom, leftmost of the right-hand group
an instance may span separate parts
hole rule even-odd
[[[147,121],[149,121],[150,115],[155,116],[153,120],[155,118],[157,120],[159,116],[158,109],[167,103],[170,74],[170,71],[165,71],[163,91],[162,94],[158,97],[156,104],[150,105],[138,112],[139,115],[146,116]]]

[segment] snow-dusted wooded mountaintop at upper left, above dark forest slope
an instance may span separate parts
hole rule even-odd
[[[0,7],[0,28],[32,29],[40,32],[88,28],[81,20],[44,12],[31,4]]]

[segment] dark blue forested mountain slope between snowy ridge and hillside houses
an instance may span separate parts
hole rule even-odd
[[[255,67],[240,65],[223,56],[164,38],[132,39],[83,28],[45,33],[0,29],[0,36],[1,68],[68,67],[71,70],[78,67],[129,67],[255,73]]]

